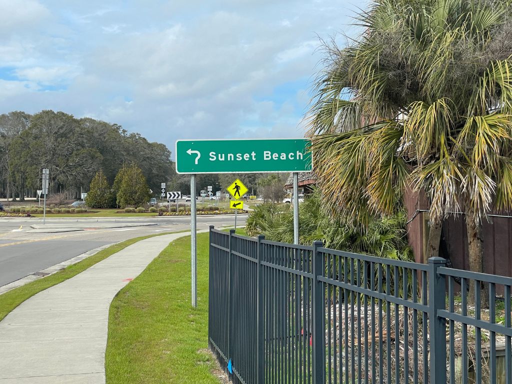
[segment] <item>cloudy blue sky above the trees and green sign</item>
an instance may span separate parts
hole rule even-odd
[[[176,139],[304,135],[345,0],[0,0],[0,113],[43,109]]]

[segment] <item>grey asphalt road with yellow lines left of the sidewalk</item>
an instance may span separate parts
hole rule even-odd
[[[76,232],[33,233],[34,230],[30,226],[35,224],[39,227],[42,219],[0,219],[0,287],[105,244],[158,232],[190,229],[189,217],[47,219],[46,223],[48,227],[88,228]],[[109,223],[116,226],[155,225],[100,228],[109,226]],[[233,224],[233,216],[197,218],[198,230],[207,229],[209,225],[221,227]],[[245,224],[243,215],[239,215],[238,224]]]

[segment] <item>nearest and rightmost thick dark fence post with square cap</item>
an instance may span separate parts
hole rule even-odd
[[[437,316],[439,309],[446,309],[446,278],[437,273],[445,267],[443,258],[429,259],[429,322],[430,322],[430,382],[446,383],[446,319]],[[424,335],[423,337],[425,337]]]

